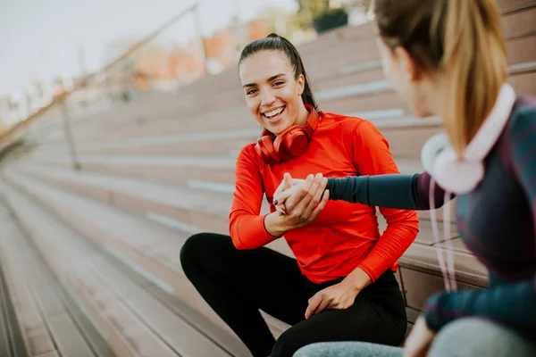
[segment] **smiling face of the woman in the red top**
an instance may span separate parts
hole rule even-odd
[[[287,56],[261,51],[240,63],[239,76],[246,104],[255,119],[275,135],[294,125],[304,107],[305,78],[295,79]]]

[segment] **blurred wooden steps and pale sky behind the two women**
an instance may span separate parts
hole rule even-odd
[[[536,95],[536,1],[497,2],[508,81]],[[261,132],[240,51],[288,37],[320,109],[373,121],[399,169],[418,172],[442,127],[384,78],[372,5],[0,0],[0,355],[249,355],[179,261],[190,235],[228,234],[236,157]],[[443,289],[434,249],[447,249],[419,214],[397,274],[410,328]],[[458,286],[486,288],[451,232]],[[283,239],[270,247],[292,256]],[[263,316],[274,336],[289,328]]]

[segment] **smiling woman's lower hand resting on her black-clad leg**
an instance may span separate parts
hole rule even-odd
[[[309,319],[315,313],[326,309],[345,310],[354,304],[359,290],[355,285],[348,284],[345,280],[316,293],[309,299],[309,306],[306,310],[306,319]]]

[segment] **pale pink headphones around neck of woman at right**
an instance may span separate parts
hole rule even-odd
[[[458,195],[466,194],[484,177],[484,158],[497,143],[515,104],[514,88],[504,84],[498,94],[495,106],[482,123],[482,127],[465,147],[464,161],[457,159],[445,133],[431,137],[423,145],[421,162],[424,170],[443,189]]]

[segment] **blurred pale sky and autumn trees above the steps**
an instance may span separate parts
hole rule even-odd
[[[277,32],[295,44],[370,17],[370,0],[2,2],[2,130],[84,81],[77,102],[125,90],[172,91],[236,65]],[[125,55],[126,54],[126,55]],[[121,56],[125,55],[121,58]],[[121,58],[121,61],[114,62]],[[111,68],[106,65],[113,63]],[[95,78],[85,82],[89,74]]]

